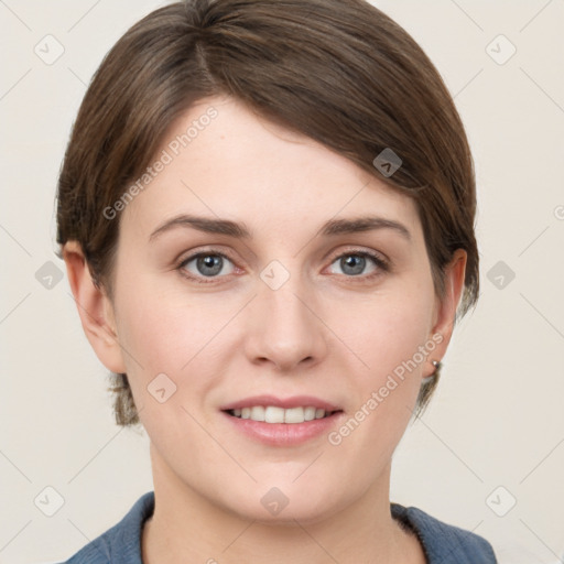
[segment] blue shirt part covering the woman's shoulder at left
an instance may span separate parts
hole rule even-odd
[[[148,491],[119,523],[61,564],[142,564],[141,533],[153,510],[154,492]]]

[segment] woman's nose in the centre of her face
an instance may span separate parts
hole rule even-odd
[[[291,275],[278,289],[259,280],[246,317],[249,360],[283,373],[318,362],[327,352],[327,328],[316,303],[299,275]]]

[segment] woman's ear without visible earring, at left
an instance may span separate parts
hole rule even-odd
[[[63,259],[88,341],[108,370],[124,373],[126,365],[118,340],[113,305],[105,290],[94,283],[80,243],[66,242]]]

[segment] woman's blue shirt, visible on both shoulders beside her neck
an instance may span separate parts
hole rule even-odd
[[[416,507],[390,505],[391,514],[421,541],[429,564],[497,564],[488,541],[443,523]],[[143,524],[153,514],[154,491],[139,498],[123,519],[62,564],[142,564]]]

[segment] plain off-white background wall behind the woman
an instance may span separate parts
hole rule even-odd
[[[106,369],[66,278],[57,281],[54,196],[88,80],[163,3],[0,0],[0,563],[67,558],[153,488],[147,434],[115,425]],[[476,162],[481,252],[479,305],[395,453],[391,499],[484,535],[501,564],[555,563],[564,555],[564,1],[373,3],[422,45],[455,96]],[[52,517],[57,498],[46,487],[63,501]]]

